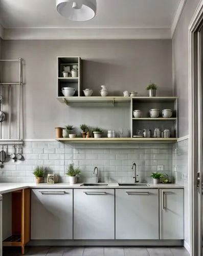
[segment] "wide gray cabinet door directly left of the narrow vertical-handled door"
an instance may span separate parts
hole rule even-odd
[[[116,239],[159,239],[158,189],[116,189]]]

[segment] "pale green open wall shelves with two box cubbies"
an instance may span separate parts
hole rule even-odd
[[[64,66],[78,65],[78,77],[62,77]],[[123,143],[123,142],[171,142],[177,141],[177,97],[120,97],[120,96],[91,96],[85,97],[82,93],[81,83],[81,58],[80,57],[58,57],[58,94],[57,100],[65,103],[68,106],[89,106],[97,104],[97,106],[118,106],[122,103],[129,104],[130,120],[129,130],[130,138],[58,138],[57,141],[63,143],[74,142],[97,142],[97,143]],[[74,87],[76,94],[73,97],[64,97],[61,92],[62,87]],[[163,109],[171,109],[173,115],[171,118],[150,118],[149,110],[159,109],[162,113]],[[133,110],[141,110],[143,116],[141,118],[133,117]],[[155,128],[160,128],[162,131],[168,129],[171,132],[170,138],[153,138]],[[151,130],[151,138],[134,138],[140,130]]]

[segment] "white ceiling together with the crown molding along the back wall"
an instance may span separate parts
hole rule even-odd
[[[3,39],[168,39],[186,0],[97,0],[97,14],[72,22],[56,0],[0,0]],[[3,27],[2,27],[2,26]]]

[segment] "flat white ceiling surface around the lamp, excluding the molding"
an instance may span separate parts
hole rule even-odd
[[[71,22],[56,12],[56,0],[1,0],[5,28],[170,28],[179,0],[97,0],[97,15]]]

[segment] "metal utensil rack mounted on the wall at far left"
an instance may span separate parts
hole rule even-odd
[[[6,90],[9,90],[9,113],[8,113],[8,121],[9,121],[9,125],[8,125],[8,139],[3,139],[2,138],[2,122],[0,124],[0,145],[18,145],[18,144],[22,144],[23,141],[20,138],[20,134],[21,134],[21,86],[22,86],[22,58],[18,58],[18,59],[0,59],[0,63],[2,64],[2,62],[18,62],[19,65],[19,73],[18,73],[18,81],[16,82],[3,82],[2,81],[2,72],[1,72],[1,82],[0,82],[0,89],[1,92],[4,91],[4,88],[6,88]],[[2,66],[1,66],[2,67]],[[18,129],[18,136],[15,139],[11,138],[11,94],[12,94],[12,86],[17,86],[18,87],[18,105],[17,105],[17,109],[18,109],[18,120],[17,120],[17,129]],[[2,104],[0,103],[0,110],[2,110]]]

